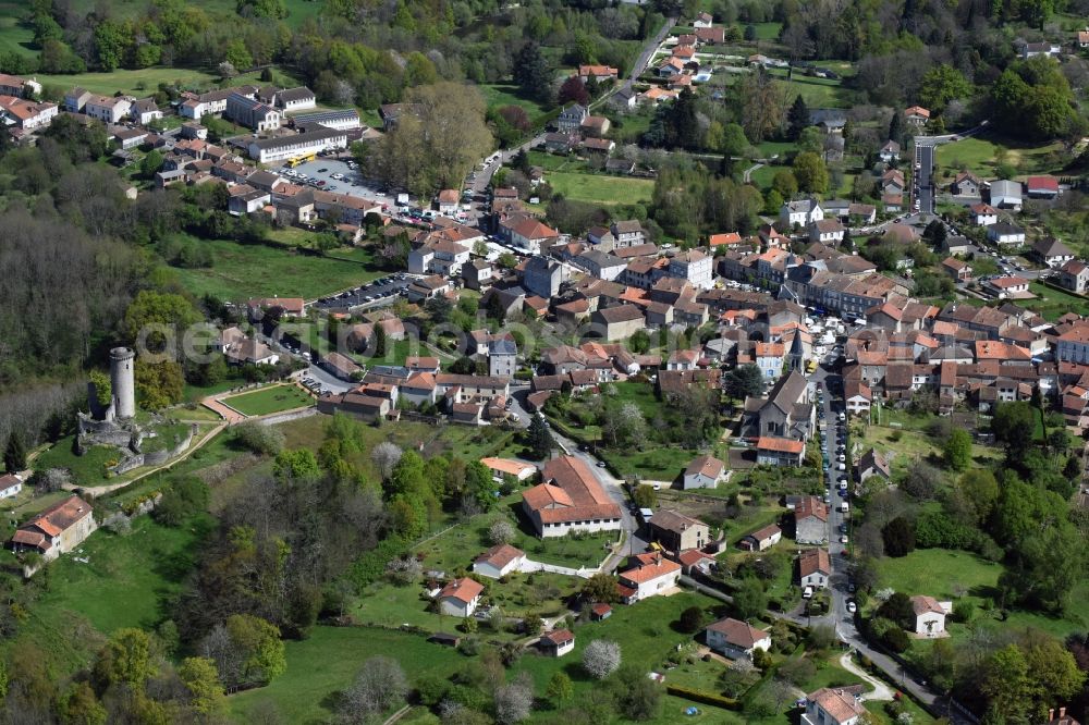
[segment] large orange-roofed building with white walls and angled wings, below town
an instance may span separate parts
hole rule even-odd
[[[522,508],[539,537],[620,529],[620,506],[580,459],[553,458],[541,470],[541,478],[543,483],[522,494]]]

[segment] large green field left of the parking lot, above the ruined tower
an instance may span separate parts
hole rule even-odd
[[[201,239],[199,244],[211,249],[212,266],[173,270],[182,285],[197,297],[211,294],[224,300],[272,296],[315,299],[383,274],[365,265],[259,244],[227,239]]]

